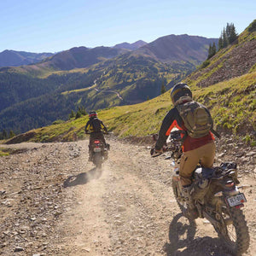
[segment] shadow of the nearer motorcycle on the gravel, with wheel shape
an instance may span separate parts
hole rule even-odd
[[[231,256],[224,250],[218,238],[196,237],[195,221],[189,221],[178,213],[170,224],[169,241],[164,250],[167,256]]]

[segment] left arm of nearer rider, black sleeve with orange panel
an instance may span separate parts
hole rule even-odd
[[[163,119],[162,125],[159,131],[159,137],[157,142],[155,143],[155,149],[160,150],[166,143],[167,137],[170,135],[172,128],[177,125],[177,119],[179,115],[177,113],[177,108],[172,108],[167,114],[165,119]],[[180,120],[178,120],[180,123]]]

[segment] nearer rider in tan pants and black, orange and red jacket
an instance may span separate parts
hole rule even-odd
[[[189,135],[190,133],[184,125],[184,119],[180,110],[185,106],[184,104],[187,103],[186,105],[188,105],[194,102],[192,100],[192,92],[187,84],[174,85],[171,91],[171,98],[174,108],[172,108],[166,114],[165,119],[163,119],[158,140],[155,143],[154,150],[151,154],[154,156],[154,154],[162,153],[162,147],[166,143],[166,139],[170,135],[174,126],[176,126],[178,130],[185,131],[185,137],[183,137],[183,155],[180,160],[179,177],[183,185],[183,195],[188,204],[188,214],[196,215],[197,210],[190,195],[190,190],[192,189],[191,176],[199,162],[201,162],[201,166],[203,167],[212,167],[216,149],[214,137],[212,135],[212,132],[214,131],[212,129],[207,131],[207,134],[204,134],[203,137],[192,137]],[[216,134],[216,132],[214,132],[214,134]]]

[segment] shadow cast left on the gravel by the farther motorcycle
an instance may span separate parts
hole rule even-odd
[[[82,172],[78,175],[67,177],[67,180],[63,183],[64,188],[73,187],[76,185],[83,185],[89,183],[90,180],[96,179],[102,176],[102,169],[93,168],[89,172]]]

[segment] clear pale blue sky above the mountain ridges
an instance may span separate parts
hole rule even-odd
[[[241,33],[255,0],[0,0],[0,52],[57,52],[77,46],[152,42],[170,34],[219,38]]]

